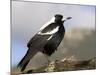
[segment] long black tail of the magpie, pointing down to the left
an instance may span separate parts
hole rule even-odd
[[[23,72],[27,66],[27,64],[29,63],[30,59],[36,54],[36,52],[34,51],[31,52],[30,50],[27,51],[26,55],[23,57],[23,59],[19,62],[19,64],[17,65],[17,68],[21,69],[21,72]]]

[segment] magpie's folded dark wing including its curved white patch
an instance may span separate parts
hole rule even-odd
[[[59,29],[59,26],[56,26],[55,23],[49,24],[47,27],[39,31],[27,44],[27,47],[37,46],[40,44],[45,44],[47,39],[51,37],[54,33],[56,33]]]

